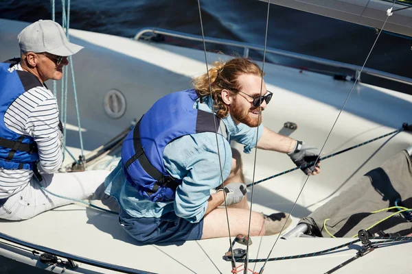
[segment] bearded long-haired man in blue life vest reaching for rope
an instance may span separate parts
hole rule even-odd
[[[317,155],[304,142],[263,127],[262,110],[271,97],[259,66],[236,58],[216,62],[194,79],[193,89],[152,105],[124,140],[122,160],[106,179],[106,193],[119,202],[126,232],[146,244],[222,237],[229,234],[229,214],[231,235],[248,234],[240,153],[229,142],[244,145],[246,153],[256,145],[288,153],[298,166]],[[308,175],[319,171],[319,166],[304,169]],[[289,223],[284,213],[252,212],[250,232],[277,234]]]

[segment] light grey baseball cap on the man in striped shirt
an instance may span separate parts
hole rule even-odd
[[[82,46],[69,42],[62,27],[52,20],[39,20],[23,29],[19,36],[19,46],[24,52],[48,52],[59,56],[70,56]]]

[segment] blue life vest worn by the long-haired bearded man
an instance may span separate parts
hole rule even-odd
[[[122,145],[122,163],[128,183],[150,201],[172,201],[181,180],[170,177],[163,164],[169,142],[188,134],[216,132],[216,115],[196,110],[195,90],[174,92],[159,99],[141,117]],[[214,121],[215,119],[215,121]]]

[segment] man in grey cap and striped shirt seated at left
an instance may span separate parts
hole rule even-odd
[[[62,27],[49,20],[25,27],[18,40],[21,58],[0,63],[0,219],[8,220],[71,203],[41,187],[86,199],[107,175],[51,174],[62,164],[62,132],[56,98],[45,82],[61,79],[67,57],[83,47],[69,42]]]

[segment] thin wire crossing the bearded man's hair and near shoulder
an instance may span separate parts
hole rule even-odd
[[[222,173],[222,161],[220,160],[220,149],[219,149],[219,142],[218,142],[218,128],[216,127],[216,119],[214,118],[215,110],[214,110],[214,103],[213,103],[213,95],[211,94],[211,83],[210,83],[210,75],[209,75],[209,65],[207,64],[207,54],[206,54],[206,42],[205,42],[205,33],[203,32],[203,21],[202,21],[202,11],[201,11],[201,0],[198,0],[198,8],[199,8],[199,18],[201,19],[201,30],[202,30],[202,39],[203,39],[203,51],[205,53],[205,64],[206,64],[206,71],[207,71],[207,81],[209,82],[209,91],[210,91],[210,100],[211,100],[211,112],[213,114],[213,121],[215,127],[215,136],[216,136],[216,146],[218,149],[218,158],[219,158],[219,169],[220,169],[220,181],[222,182],[223,188],[225,188],[225,182],[223,182],[223,173]],[[229,233],[229,245],[230,250],[233,253],[233,247],[231,245],[231,233],[230,233],[230,225],[229,225],[229,212],[227,212],[227,203],[226,203],[226,191],[223,190],[223,195],[225,197],[225,211],[226,211],[226,219],[227,219],[227,231]],[[232,260],[232,267],[236,268],[236,260],[233,258]]]

